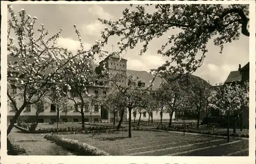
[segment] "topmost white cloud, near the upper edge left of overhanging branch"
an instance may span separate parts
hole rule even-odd
[[[90,14],[93,14],[95,16],[98,16],[101,19],[112,19],[114,16],[110,13],[106,12],[101,6],[99,5],[93,5],[88,10]]]

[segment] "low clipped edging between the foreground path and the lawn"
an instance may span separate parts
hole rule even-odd
[[[108,156],[109,154],[86,143],[79,143],[77,140],[63,138],[57,134],[46,134],[44,138],[55,142],[55,144],[79,155]]]

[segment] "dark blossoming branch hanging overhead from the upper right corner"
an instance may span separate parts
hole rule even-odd
[[[170,60],[157,71],[191,73],[202,65],[207,53],[206,44],[210,39],[214,39],[214,44],[220,46],[222,53],[224,43],[239,39],[240,33],[249,36],[248,5],[224,7],[158,4],[155,8],[154,13],[147,13],[147,8],[138,5],[135,10],[126,8],[118,20],[99,18],[102,24],[110,28],[106,27],[101,32],[102,41],[97,46],[107,44],[111,36],[117,35],[120,37],[120,41],[117,42],[118,53],[122,53],[126,48],[133,49],[142,42],[143,46],[139,53],[142,55],[153,39],[178,28],[180,32],[168,36],[166,43],[157,52],[170,57]],[[171,63],[176,63],[177,66]]]

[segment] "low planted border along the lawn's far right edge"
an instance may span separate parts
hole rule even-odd
[[[184,131],[183,125],[172,125],[170,128],[168,128],[168,125],[159,125],[156,127],[156,129],[160,130],[169,130],[169,131]],[[249,134],[246,132],[240,132],[237,133],[231,132],[233,129],[230,129],[230,136],[235,137],[249,137]],[[209,125],[200,125],[199,129],[197,129],[196,125],[185,125],[185,132],[189,133],[201,133],[201,134],[210,134],[210,135],[221,135],[221,136],[227,136],[227,130],[225,128],[218,128],[217,126],[209,126]]]

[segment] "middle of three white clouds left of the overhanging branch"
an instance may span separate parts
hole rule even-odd
[[[100,36],[100,32],[103,30],[103,25],[99,21],[94,21],[89,25],[82,25],[82,31],[84,34],[91,36]]]

